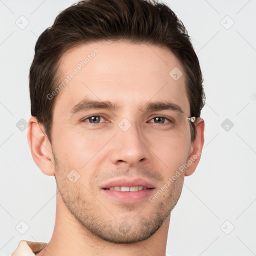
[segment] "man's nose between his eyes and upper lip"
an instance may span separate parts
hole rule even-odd
[[[146,163],[150,157],[149,141],[136,124],[125,131],[121,126],[116,129],[112,140],[111,161],[113,164],[136,166],[138,162]]]

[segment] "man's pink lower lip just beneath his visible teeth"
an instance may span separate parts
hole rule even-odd
[[[101,190],[103,191],[103,193],[114,198],[115,200],[127,203],[141,201],[145,198],[148,198],[154,192],[154,188],[142,189],[137,191],[118,191],[108,189]]]

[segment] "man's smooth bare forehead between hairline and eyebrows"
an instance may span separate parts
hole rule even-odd
[[[63,86],[55,107],[71,107],[90,96],[127,107],[148,100],[171,100],[189,111],[182,66],[170,50],[156,45],[123,41],[82,44],[61,56],[58,77]]]

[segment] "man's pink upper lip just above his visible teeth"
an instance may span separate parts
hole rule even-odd
[[[118,178],[110,180],[109,182],[102,185],[100,188],[109,188],[112,186],[146,186],[147,188],[154,188],[154,186],[143,178]]]

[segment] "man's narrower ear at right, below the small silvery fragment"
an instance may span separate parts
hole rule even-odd
[[[204,120],[200,117],[195,120],[195,140],[191,144],[189,156],[186,162],[188,166],[185,170],[185,176],[191,175],[201,158],[202,146],[204,143]]]

